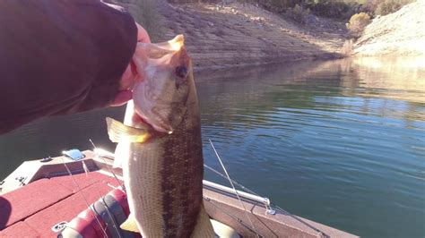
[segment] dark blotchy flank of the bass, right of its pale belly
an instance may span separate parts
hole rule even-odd
[[[190,126],[190,123],[186,124]],[[162,206],[165,211],[162,216],[170,231],[176,229],[176,232],[170,232],[166,237],[174,234],[178,237],[189,237],[202,208],[202,195],[199,194],[202,194],[204,163],[199,159],[202,158],[199,135],[199,126],[186,130],[178,129],[164,144],[164,160],[171,162],[169,166],[164,166],[161,173],[164,191]],[[168,210],[170,212],[166,212]],[[183,229],[174,227],[175,225]]]

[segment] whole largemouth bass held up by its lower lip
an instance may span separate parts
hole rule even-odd
[[[120,227],[148,238],[214,237],[203,202],[200,111],[184,37],[138,43],[133,59],[143,79],[134,83],[127,106],[131,120],[106,119],[109,139],[121,147],[116,159],[130,208]]]

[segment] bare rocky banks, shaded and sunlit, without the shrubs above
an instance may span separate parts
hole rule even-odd
[[[141,4],[142,2],[113,1],[125,6],[134,16],[145,11],[143,7],[146,4]],[[412,47],[412,44],[407,44],[410,41],[400,40],[395,44],[394,39],[397,34],[406,35],[403,29],[411,28],[405,24],[412,25],[409,22],[412,19],[417,18],[417,23],[413,26],[423,28],[421,14],[406,17],[406,10],[418,8],[417,5],[412,7],[409,4],[396,13],[374,20],[357,43],[347,47],[350,35],[342,21],[310,15],[305,24],[299,24],[254,4],[240,4],[235,1],[224,6],[208,3],[170,4],[166,0],[155,1],[154,4],[157,16],[149,30],[153,41],[164,41],[177,34],[184,34],[195,71],[298,60],[337,59],[350,55],[391,55],[386,54],[387,52],[393,52],[393,55],[410,55],[407,51],[417,52],[416,49],[408,48]],[[388,23],[394,21],[391,17],[401,22],[395,24],[400,29],[386,29],[392,26]],[[135,19],[138,20],[137,17]],[[387,34],[388,32],[393,35]],[[413,33],[409,38],[414,39],[413,36],[421,35],[418,40],[423,41],[423,34]],[[389,45],[392,47],[388,47]]]

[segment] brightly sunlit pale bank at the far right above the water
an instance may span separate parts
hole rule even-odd
[[[353,55],[425,56],[425,1],[375,18],[353,46]]]

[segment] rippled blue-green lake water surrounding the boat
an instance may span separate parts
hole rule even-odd
[[[292,214],[365,237],[425,236],[425,61],[297,62],[196,75],[205,164]],[[104,118],[45,118],[0,136],[0,178],[63,149],[114,149]],[[205,172],[206,179],[229,185]]]

